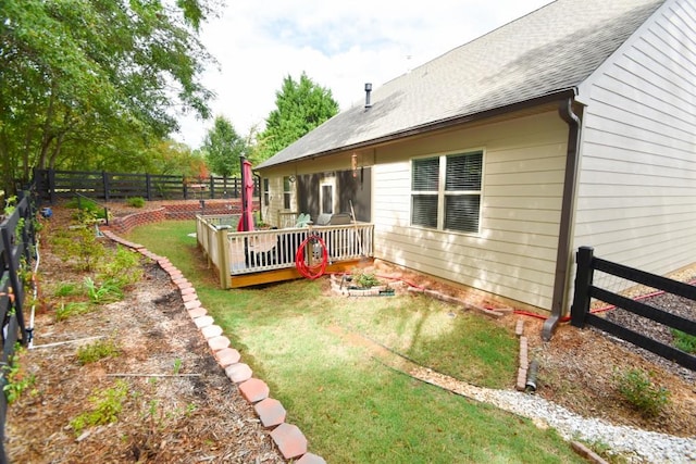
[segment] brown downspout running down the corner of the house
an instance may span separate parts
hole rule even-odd
[[[577,165],[580,161],[580,131],[582,122],[573,112],[573,98],[559,105],[559,114],[568,124],[568,152],[566,154],[566,177],[563,179],[563,199],[561,203],[561,221],[558,234],[558,251],[556,254],[556,276],[554,278],[554,297],[551,299],[551,316],[546,319],[542,329],[545,341],[551,339],[556,327],[563,316],[563,300],[568,280],[568,269],[572,255],[572,220],[577,184]]]

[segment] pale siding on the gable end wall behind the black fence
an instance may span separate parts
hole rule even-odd
[[[696,3],[668,1],[581,87],[575,247],[656,274],[696,262],[694,30]]]

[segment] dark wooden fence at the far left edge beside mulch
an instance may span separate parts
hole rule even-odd
[[[36,236],[34,205],[25,196],[12,214],[0,223],[0,342],[2,355],[0,364],[0,385],[8,385],[8,372],[12,364],[17,343],[27,346],[30,333],[24,322],[25,287],[30,275],[30,266],[36,255]],[[8,399],[0,394],[0,462],[7,462],[4,453],[4,423],[8,413]]]

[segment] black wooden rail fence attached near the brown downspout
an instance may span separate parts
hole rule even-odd
[[[670,314],[667,311],[635,301],[617,293],[612,293],[593,285],[595,271],[600,271],[613,276],[623,277],[636,284],[657,288],[693,301],[696,301],[696,287],[671,280],[655,274],[649,274],[621,264],[605,261],[594,256],[594,249],[581,247],[577,250],[577,272],[575,274],[575,294],[571,306],[571,325],[584,327],[585,324],[595,326],[606,333],[612,334],[623,340],[630,341],[641,348],[645,348],[664,359],[674,361],[684,367],[696,371],[696,356],[676,348],[670,347],[657,340],[645,337],[600,316],[589,312],[589,303],[593,298],[613,304],[636,316],[647,317],[668,327],[682,330],[696,336],[696,322]]]

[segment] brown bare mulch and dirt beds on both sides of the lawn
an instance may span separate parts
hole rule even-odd
[[[67,221],[64,211],[54,213],[42,238]],[[24,374],[35,375],[36,381],[10,406],[5,450],[11,462],[284,462],[157,264],[144,259],[144,278],[127,289],[123,301],[57,322],[60,300],[51,292],[62,283],[82,281],[84,274],[58,259],[49,240],[42,240],[41,251],[36,348],[20,358]],[[415,273],[398,274],[477,305],[500,305]],[[693,372],[594,329],[563,324],[544,343],[540,318],[511,314],[500,324],[512,330],[519,318],[525,323],[530,358],[540,361],[535,394],[586,417],[696,437]],[[92,337],[113,340],[120,355],[80,365],[77,348],[94,342]],[[49,346],[60,342],[66,343]],[[651,373],[670,392],[670,404],[657,417],[644,416],[618,393],[617,373],[633,367]],[[126,384],[127,396],[117,421],[76,434],[71,421],[94,409],[90,398],[119,381]],[[510,388],[513,385],[511,379]]]

